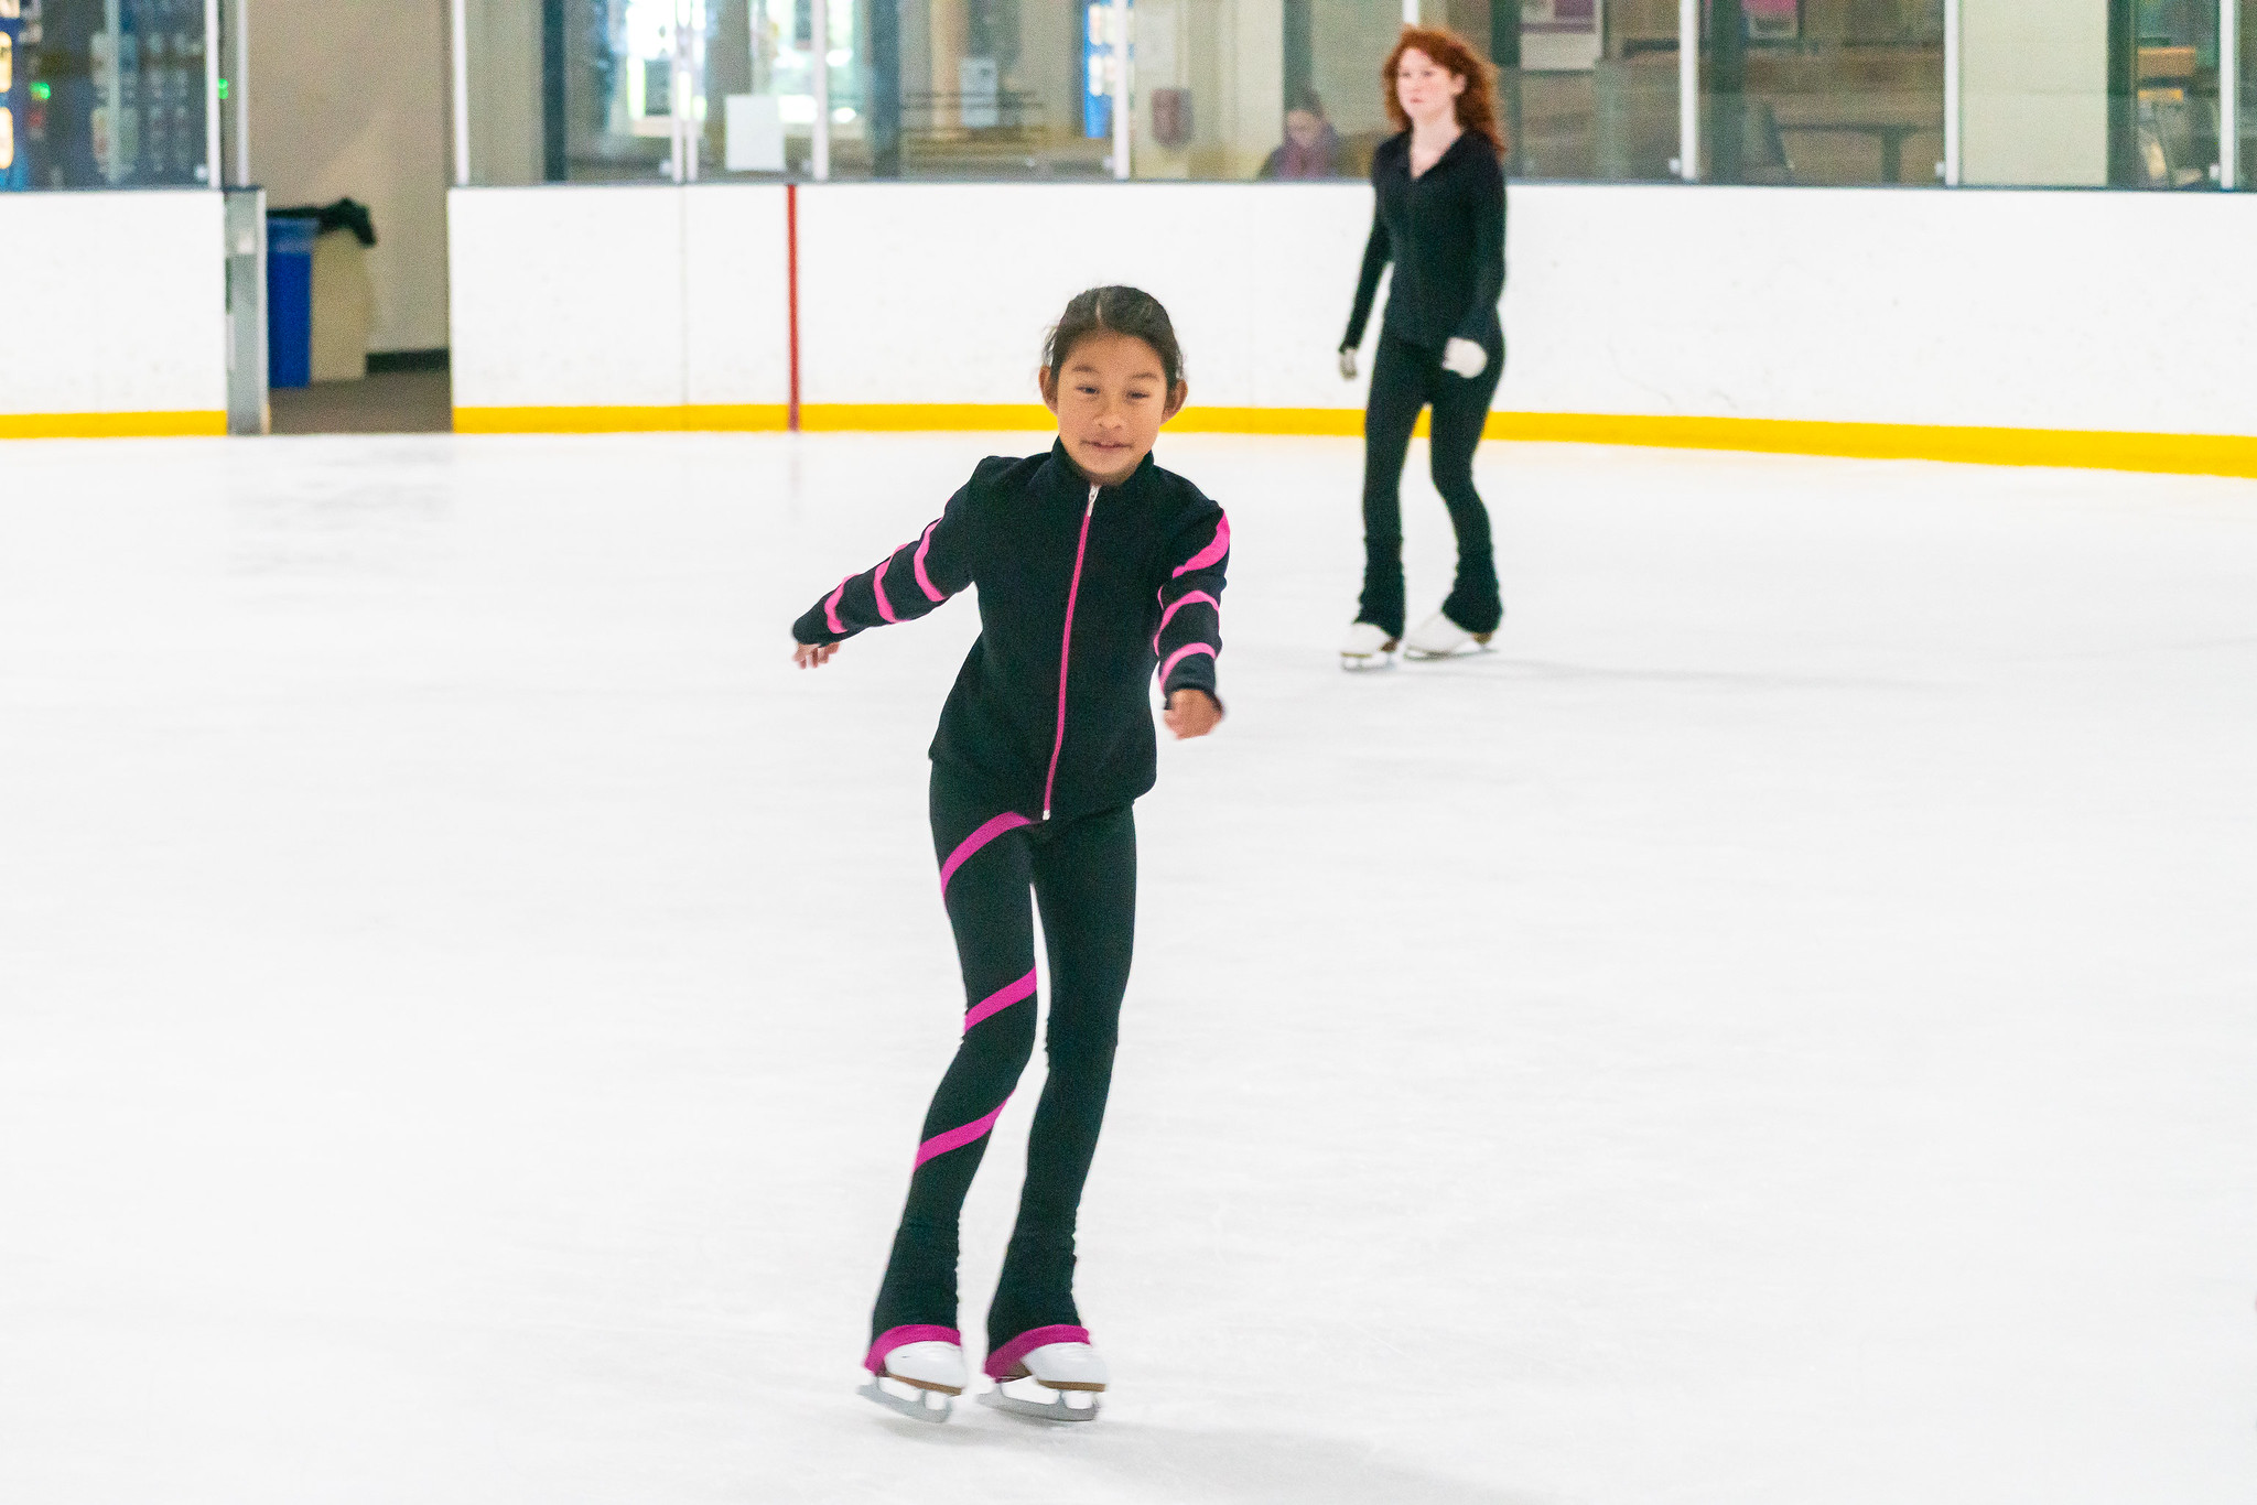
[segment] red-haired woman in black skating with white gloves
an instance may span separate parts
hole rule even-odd
[[[1372,316],[1379,271],[1395,262],[1388,316],[1363,411],[1363,602],[1341,643],[1343,668],[1384,668],[1397,645],[1447,659],[1485,645],[1505,616],[1496,596],[1490,512],[1474,492],[1505,334],[1505,140],[1492,68],[1454,32],[1404,27],[1379,70],[1397,135],[1372,153],[1372,237],[1356,307],[1341,341],[1341,377]],[[1458,582],[1442,609],[1404,639],[1402,474],[1420,408],[1433,408],[1433,485],[1458,533]]]

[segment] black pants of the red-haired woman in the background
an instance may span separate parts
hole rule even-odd
[[[1503,621],[1490,510],[1474,490],[1474,447],[1503,372],[1503,345],[1490,350],[1490,366],[1467,381],[1442,370],[1440,350],[1379,336],[1372,395],[1363,408],[1363,602],[1356,621],[1386,627],[1390,636],[1404,632],[1402,478],[1411,429],[1424,406],[1433,408],[1433,487],[1442,492],[1449,523],[1458,530],[1458,582],[1442,614],[1467,632],[1496,632]]]

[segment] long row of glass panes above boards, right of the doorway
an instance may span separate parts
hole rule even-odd
[[[0,11],[45,5],[84,27],[106,2]],[[122,5],[158,27],[199,0]],[[1388,135],[1379,61],[1404,16],[1386,0],[451,5],[467,54],[458,185],[503,187],[1361,178]],[[1519,181],[2216,190],[2252,176],[2257,0],[1424,0],[1420,18],[1496,65]],[[192,47],[201,32],[120,88],[174,99]],[[163,122],[158,156],[176,162],[185,126]],[[135,162],[151,151],[135,138]]]

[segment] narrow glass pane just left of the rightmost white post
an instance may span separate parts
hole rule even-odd
[[[2219,0],[2119,0],[2110,11],[2108,181],[2216,185]]]

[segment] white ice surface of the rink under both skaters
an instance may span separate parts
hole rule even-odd
[[[0,447],[0,1498],[2257,1498],[2237,481],[1490,445],[1499,652],[1347,677],[1359,447],[1162,440],[1115,1390],[855,1399],[975,616],[785,627],[1040,442]]]

